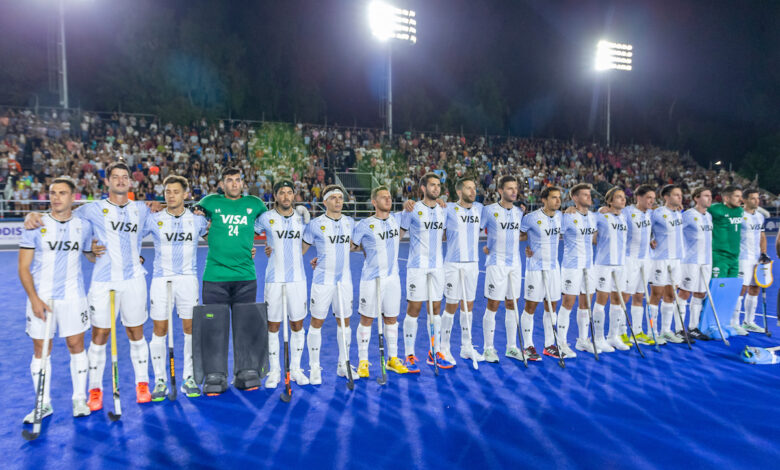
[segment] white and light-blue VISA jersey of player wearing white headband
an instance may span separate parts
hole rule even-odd
[[[334,286],[339,282],[352,282],[349,253],[354,228],[352,217],[342,215],[336,220],[325,214],[312,219],[306,226],[303,242],[317,249],[314,284]]]

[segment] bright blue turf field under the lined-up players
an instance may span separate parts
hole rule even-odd
[[[770,246],[774,240],[770,239]],[[405,257],[407,244],[402,244]],[[349,392],[335,376],[335,321],[323,335],[323,385],[293,385],[293,401],[282,403],[275,391],[238,392],[218,398],[139,406],[134,400],[129,346],[120,333],[122,420],[109,423],[105,412],[74,420],[64,341],[55,342],[52,400],[55,413],[44,421],[44,434],[25,442],[21,418],[33,405],[29,377],[30,340],[24,334],[24,292],[16,276],[16,253],[0,253],[0,287],[5,313],[0,316],[3,406],[0,407],[1,468],[110,468],[236,466],[301,468],[776,468],[780,457],[773,437],[778,412],[774,404],[780,366],[743,364],[746,344],[773,346],[774,339],[751,334],[735,337],[731,348],[702,343],[604,354],[601,362],[581,354],[561,370],[556,361],[522,363],[501,356],[497,365],[475,371],[459,361],[435,378],[422,365],[419,376],[390,373],[389,384],[375,381],[376,333],[371,342],[372,377]],[[152,259],[151,250],[144,256]],[[201,267],[205,249],[199,251]],[[312,254],[306,256],[307,261]],[[362,255],[353,254],[354,279]],[[265,257],[256,264],[262,273]],[[403,275],[404,263],[402,263]],[[780,263],[775,276],[780,273]],[[482,343],[485,301],[480,277],[475,307],[475,344]],[[262,288],[258,299],[262,299]],[[357,298],[357,282],[355,282]],[[768,293],[775,317],[777,287]],[[405,302],[402,304],[402,312]],[[759,305],[759,312],[761,306]],[[503,352],[503,308],[497,317],[496,345]],[[759,322],[760,323],[760,322]],[[575,321],[572,320],[572,325]],[[460,334],[454,328],[457,357]],[[534,333],[542,343],[541,318]],[[775,335],[780,328],[770,319]],[[427,349],[425,315],[420,317],[417,354]],[[570,341],[576,335],[572,326]],[[354,329],[353,329],[354,332]],[[147,324],[147,339],[151,324]],[[176,356],[181,367],[181,336]],[[403,353],[403,337],[399,351]],[[481,347],[480,347],[481,349]],[[356,361],[353,340],[352,359]],[[304,354],[303,364],[307,364]],[[104,380],[106,409],[111,409],[110,366]],[[150,370],[151,373],[151,370]]]

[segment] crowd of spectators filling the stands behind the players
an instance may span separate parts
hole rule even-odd
[[[32,201],[5,203],[0,213],[7,216],[5,211],[43,206],[35,201],[45,200],[47,181],[62,174],[76,181],[77,199],[106,197],[104,168],[119,157],[133,169],[132,197],[138,200],[162,200],[162,180],[172,173],[186,176],[193,198],[199,199],[217,191],[221,169],[240,166],[247,192],[270,201],[272,181],[247,158],[255,125],[206,119],[183,125],[147,115],[0,110],[0,198]],[[334,181],[336,171],[361,162],[363,168],[380,167],[381,158],[368,161],[378,148],[393,149],[408,162],[408,173],[395,188],[398,201],[417,197],[416,183],[428,171],[437,171],[450,182],[465,174],[476,175],[479,197],[485,202],[496,200],[499,176],[520,176],[526,182],[520,199],[528,206],[538,202],[541,188],[549,184],[565,189],[589,182],[599,194],[619,185],[629,196],[631,188],[641,183],[676,182],[691,190],[704,185],[715,193],[730,184],[751,186],[751,181],[725,168],[703,168],[689,155],[648,145],[606,148],[592,142],[419,132],[390,140],[382,130],[303,124],[297,131],[307,146],[309,166],[294,177],[299,201],[310,206],[316,205],[322,188]],[[780,210],[780,198],[762,191],[761,199],[770,212]]]

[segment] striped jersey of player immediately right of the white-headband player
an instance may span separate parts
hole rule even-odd
[[[371,216],[355,225],[352,243],[362,246],[366,252],[361,281],[398,274],[398,245],[401,242],[402,213],[391,214],[386,219]]]

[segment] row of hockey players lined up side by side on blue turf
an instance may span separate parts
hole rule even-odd
[[[543,207],[523,214],[515,206],[520,188],[512,176],[499,179],[500,200],[483,206],[475,202],[476,185],[469,178],[457,183],[458,201],[444,203],[439,199],[439,177],[431,173],[420,182],[422,199],[407,202],[400,213],[391,213],[390,191],[375,188],[371,202],[376,212],[356,223],[341,214],[344,193],[337,186],[324,191],[326,213],[308,220],[305,208],[294,207],[292,182],[276,183],[275,206],[268,211],[258,198],[242,196],[243,179],[237,169],[223,173],[220,184],[224,194],[206,196],[194,211],[184,206],[189,186],[182,177],[166,179],[164,210],[128,200],[130,171],[122,162],[106,169],[106,184],[108,199],[72,211],[73,183],[67,178],[55,179],[49,188],[51,211],[30,214],[25,220],[28,230],[20,243],[19,274],[28,295],[27,333],[34,343],[30,368],[36,394],[40,395],[40,403],[25,422],[36,421],[36,411],[38,422],[52,412],[50,385],[43,379],[49,376],[51,366],[43,351],[50,349],[49,339],[57,328],[71,353],[74,416],[102,408],[105,349],[116,312],[130,341],[137,401],[164,400],[170,392],[166,336],[174,305],[184,331],[181,391],[190,397],[199,396],[201,391],[193,374],[193,308],[199,303],[256,301],[253,241],[255,233],[262,232],[266,234],[264,251],[268,256],[264,298],[270,372],[266,388],[277,387],[282,378],[278,333],[283,326],[286,342],[285,317],[290,326],[287,389],[290,380],[299,385],[322,382],[321,328],[330,311],[338,321],[336,372],[350,381],[369,376],[369,341],[377,318],[380,348],[383,354],[386,348],[388,358],[381,361],[383,377],[385,370],[420,372],[414,346],[417,318],[424,304],[430,337],[426,362],[437,373],[456,363],[450,336],[458,309],[460,357],[472,361],[474,367],[481,361],[499,361],[494,332],[501,302],[505,310],[505,355],[526,364],[542,359],[532,336],[534,312],[540,303],[544,305],[542,352],[561,365],[576,357],[568,344],[575,303],[575,349],[579,351],[598,354],[628,350],[633,345],[638,348],[639,344],[706,339],[698,324],[705,286],[712,275],[743,277],[745,317],[740,321],[740,296],[731,326],[739,334],[763,331],[753,320],[758,290],[752,273],[755,265],[767,258],[766,237],[763,216],[756,211],[758,193],[752,190],[744,192],[741,207],[743,194],[736,188],[723,191],[724,203],[715,205],[711,205],[711,191],[699,188],[692,195],[695,206],[682,212],[682,191],[675,185],[660,189],[662,204],[658,207],[654,188],[637,188],[636,201],[627,205],[625,193],[616,187],[606,194],[605,206],[592,212],[591,188],[578,184],[569,190],[573,205],[561,212],[562,191],[547,187],[541,195]],[[479,353],[473,346],[471,325],[480,273],[479,240],[485,231],[487,308],[482,316],[483,352]],[[405,286],[408,302],[403,320],[404,354],[399,356],[397,319],[402,290],[398,253],[406,233],[410,242]],[[148,314],[145,270],[140,259],[141,242],[147,234],[154,239],[155,247]],[[201,237],[207,239],[209,252],[199,302],[196,254]],[[563,256],[559,262],[561,238]],[[527,241],[522,256],[521,241]],[[315,248],[317,257],[312,262],[311,292],[305,296],[301,295],[307,292],[303,255],[310,247]],[[365,255],[357,306],[357,370],[349,365],[352,251]],[[95,263],[87,295],[81,252]],[[591,296],[595,296],[595,302]],[[519,314],[521,297],[524,307]],[[611,306],[609,331],[605,333],[607,302]],[[631,304],[630,311],[626,303]],[[686,332],[683,322],[688,309]],[[660,327],[656,321],[659,311]],[[304,332],[303,320],[308,312],[311,320],[308,332]],[[152,317],[154,331],[147,345],[143,325],[148,316]],[[643,327],[645,320],[647,330]],[[675,328],[673,321],[677,322]],[[92,340],[87,352],[84,335],[90,325]],[[301,367],[306,345],[308,376]]]

